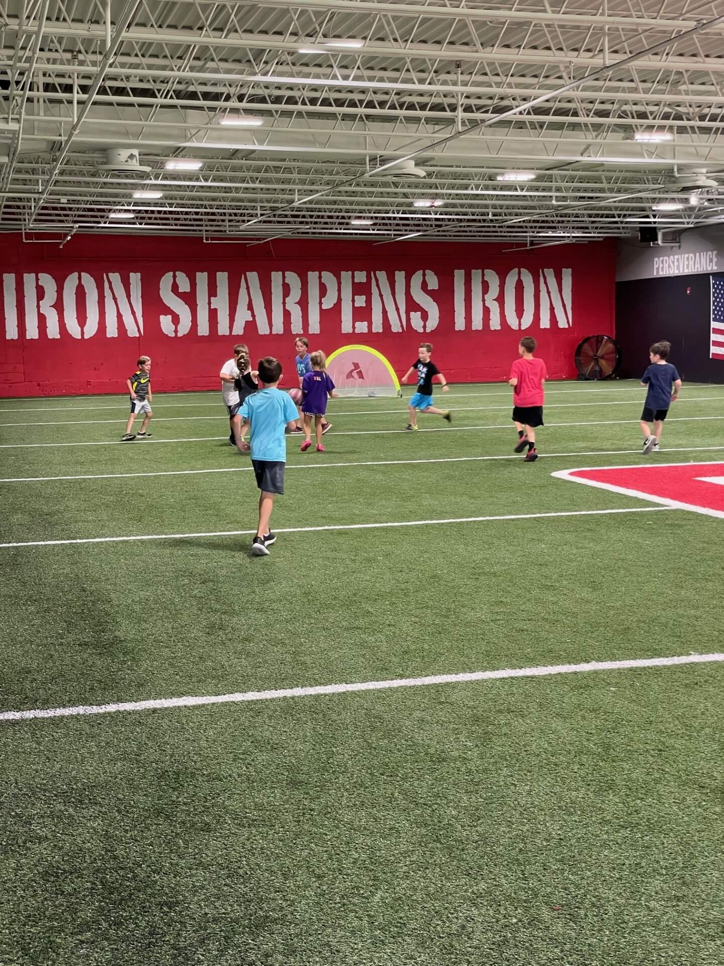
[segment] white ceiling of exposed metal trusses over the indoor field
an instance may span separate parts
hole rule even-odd
[[[141,167],[102,169],[109,149]],[[723,219],[724,0],[0,0],[0,231],[29,240]]]

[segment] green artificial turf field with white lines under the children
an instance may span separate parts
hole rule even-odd
[[[724,521],[551,476],[644,462],[644,394],[549,384],[531,465],[506,385],[332,401],[261,559],[217,392],[2,401],[2,709],[78,709],[0,721],[2,966],[720,961],[714,661],[80,713],[721,650]]]

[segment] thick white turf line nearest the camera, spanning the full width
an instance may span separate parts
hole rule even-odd
[[[388,691],[392,688],[420,688],[436,684],[468,684],[473,681],[500,681],[511,677],[548,677],[552,674],[581,674],[597,670],[632,668],[672,668],[690,664],[724,661],[724,654],[682,654],[669,658],[632,658],[623,661],[588,661],[575,665],[541,665],[537,668],[500,668],[463,671],[460,674],[431,674],[427,677],[398,677],[389,681],[358,681],[352,684],[317,684],[305,688],[279,688],[273,691],[242,691],[232,695],[157,697],[143,701],[114,704],[77,704],[66,708],[37,708],[28,711],[2,711],[0,721],[28,721],[33,718],[70,718],[77,715],[107,715],[115,711],[154,711],[192,708],[208,704],[239,704],[242,701],[270,701],[280,697],[317,697],[344,695],[360,691]]]

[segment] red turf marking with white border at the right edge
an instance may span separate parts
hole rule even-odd
[[[600,490],[724,518],[724,463],[653,463],[639,467],[559,469],[551,473]]]

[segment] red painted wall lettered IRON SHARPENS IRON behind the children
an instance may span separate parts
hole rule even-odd
[[[488,244],[76,236],[63,248],[0,237],[0,395],[125,392],[138,355],[153,388],[214,388],[235,342],[276,355],[375,347],[403,373],[421,339],[453,381],[504,379],[523,334],[550,377],[613,333],[613,242]],[[286,381],[285,381],[286,382]]]

